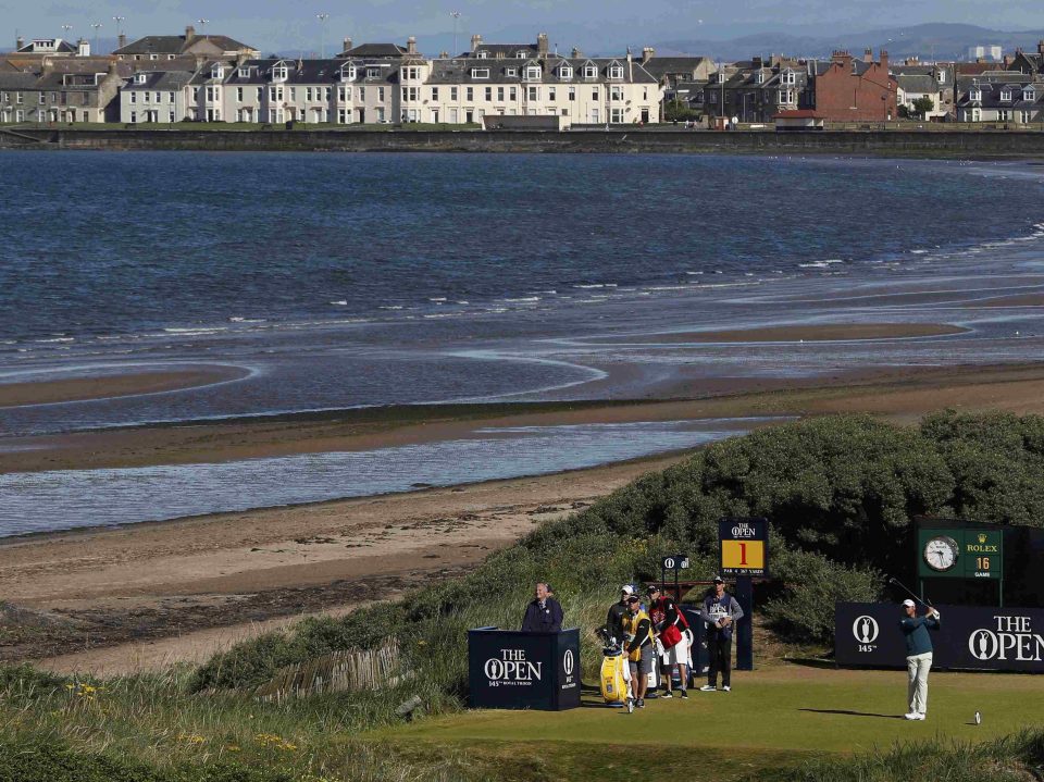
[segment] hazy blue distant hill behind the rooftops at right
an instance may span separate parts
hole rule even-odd
[[[1044,39],[1044,30],[1002,32],[969,24],[921,24],[865,33],[842,33],[836,36],[796,36],[780,33],[759,33],[728,40],[681,39],[654,45],[657,54],[703,54],[722,60],[746,60],[756,54],[788,54],[792,57],[830,57],[835,49],[847,49],[861,54],[871,48],[874,54],[887,49],[893,61],[908,57],[925,60],[965,60],[972,46],[999,46],[1005,53],[1017,47],[1036,49]]]

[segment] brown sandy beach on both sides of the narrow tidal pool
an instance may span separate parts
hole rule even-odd
[[[1044,367],[879,371],[815,387],[613,405],[461,408],[426,420],[396,421],[385,411],[374,420],[345,413],[161,426],[66,437],[48,452],[70,464],[162,463],[273,450],[380,447],[462,436],[492,422],[551,425],[869,412],[908,423],[944,408],[1044,413]],[[29,455],[40,458],[37,451]],[[459,575],[535,524],[583,508],[679,458],[11,538],[0,543],[0,594],[7,603],[0,659],[45,660],[60,670],[96,672],[203,659],[288,617],[345,611],[433,579]],[[7,467],[13,464],[9,460]]]

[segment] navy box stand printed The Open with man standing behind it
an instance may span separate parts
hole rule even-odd
[[[472,708],[544,709],[580,706],[580,631],[468,631]]]

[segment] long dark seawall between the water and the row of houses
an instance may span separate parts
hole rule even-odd
[[[345,152],[671,152],[1042,158],[1039,131],[826,131],[714,133],[635,131],[191,131],[0,128],[0,147]]]

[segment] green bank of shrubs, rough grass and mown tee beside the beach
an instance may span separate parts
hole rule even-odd
[[[835,600],[874,599],[882,570],[902,573],[918,513],[1040,524],[1044,419],[943,413],[900,429],[838,417],[716,444],[539,527],[463,579],[343,619],[307,620],[195,671],[105,682],[8,671],[0,681],[0,740],[57,747],[72,753],[74,766],[112,758],[145,764],[126,779],[149,782],[184,773],[233,774],[196,777],[229,781],[253,780],[244,775],[250,773],[269,774],[257,777],[265,781],[623,779],[634,772],[626,744],[662,745],[664,736],[686,748],[680,770],[712,774],[697,779],[784,767],[805,774],[793,779],[861,779],[859,769],[870,773],[892,757],[882,748],[932,736],[934,745],[896,749],[888,762],[909,768],[902,765],[912,762],[913,752],[946,769],[970,752],[948,742],[1014,733],[1041,713],[1039,680],[939,675],[931,721],[913,727],[895,719],[904,706],[902,673],[792,665],[745,675],[728,695],[661,702],[632,717],[592,707],[550,716],[464,711],[467,630],[517,625],[537,579],[551,581],[567,623],[581,628],[584,679],[593,681],[600,662],[594,630],[619,584],[657,576],[660,557],[679,550],[691,555],[694,575],[707,575],[718,556],[718,520],[765,514],[773,524],[773,581],[757,595],[759,621],[792,645],[824,647]],[[375,690],[309,694],[307,681],[300,697],[253,697],[258,687],[282,692],[273,683],[288,671],[322,671],[332,656],[376,649],[389,638],[398,649],[394,675]],[[405,728],[399,706],[414,698],[415,724]],[[968,724],[975,710],[987,716],[979,729]],[[699,762],[708,731],[719,727],[731,755],[742,758],[724,771]],[[1010,742],[1028,758],[1018,762],[1031,762],[1041,745],[1040,737]],[[800,765],[853,752],[871,754]],[[975,768],[986,780],[1008,779],[1010,770]],[[20,782],[53,779],[33,773]]]

